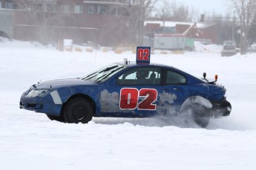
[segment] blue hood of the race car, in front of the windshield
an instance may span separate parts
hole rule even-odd
[[[36,89],[50,89],[50,88],[62,88],[70,86],[81,86],[81,85],[95,85],[93,81],[84,81],[80,78],[69,78],[69,79],[59,79],[54,81],[45,81],[40,84],[33,85]]]

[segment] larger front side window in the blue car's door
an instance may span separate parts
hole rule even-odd
[[[117,85],[157,85],[161,80],[161,68],[136,67],[128,69],[117,78]]]

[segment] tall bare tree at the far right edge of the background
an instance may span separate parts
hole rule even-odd
[[[256,0],[232,0],[232,3],[240,21],[240,54],[243,55],[247,51],[248,33],[256,14]]]

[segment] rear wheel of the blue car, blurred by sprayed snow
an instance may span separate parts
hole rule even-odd
[[[194,122],[202,128],[206,128],[210,121],[209,109],[206,106],[200,104],[194,104],[191,106],[191,113]]]

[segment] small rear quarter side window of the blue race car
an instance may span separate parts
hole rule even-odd
[[[166,84],[186,84],[186,78],[177,72],[167,71]]]

